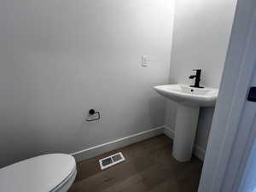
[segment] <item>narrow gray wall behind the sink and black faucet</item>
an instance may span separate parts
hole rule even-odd
[[[175,5],[170,83],[194,84],[193,68],[202,68],[201,84],[218,87],[224,68],[236,0],[178,0]],[[206,149],[214,108],[202,108],[196,143]],[[166,125],[174,129],[176,105],[168,102]]]

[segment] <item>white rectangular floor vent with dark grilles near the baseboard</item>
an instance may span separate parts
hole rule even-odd
[[[114,166],[124,160],[125,160],[124,155],[121,152],[119,152],[117,154],[113,154],[111,156],[105,157],[105,158],[99,160],[99,162],[100,162],[101,169],[104,170],[104,169],[107,169],[110,166]]]

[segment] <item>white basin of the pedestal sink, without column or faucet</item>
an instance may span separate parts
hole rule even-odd
[[[155,86],[160,95],[166,96],[174,102],[182,103],[183,105],[211,107],[214,106],[218,89],[214,88],[194,88],[185,84],[166,84]]]

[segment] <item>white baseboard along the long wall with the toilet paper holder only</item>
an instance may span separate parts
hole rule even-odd
[[[143,131],[143,132],[131,135],[129,137],[122,137],[109,143],[103,143],[101,145],[97,145],[92,148],[86,148],[84,150],[75,152],[71,155],[73,155],[73,157],[76,159],[77,162],[82,160],[88,160],[92,157],[96,157],[97,155],[107,153],[114,149],[123,148],[133,143],[138,143],[145,139],[163,134],[164,129],[165,129],[164,126],[160,126],[152,130]]]

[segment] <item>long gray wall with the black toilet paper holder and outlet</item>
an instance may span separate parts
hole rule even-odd
[[[0,166],[164,125],[165,99],[152,87],[168,82],[172,9],[166,0],[1,1]],[[90,108],[99,122],[84,122]]]

